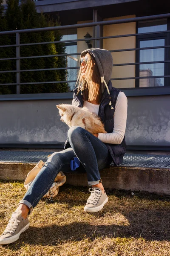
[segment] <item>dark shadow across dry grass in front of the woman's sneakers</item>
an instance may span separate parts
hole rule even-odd
[[[105,209],[94,214],[98,218],[103,218]],[[17,243],[9,244],[8,247],[11,250],[18,250],[24,244],[57,245],[65,241],[73,242],[83,239],[93,241],[99,237],[127,239],[133,237],[148,241],[170,241],[169,211],[140,208],[140,210],[129,211],[124,216],[128,219],[129,225],[92,225],[87,222],[73,222],[62,226],[53,224],[46,227],[30,227],[20,236]]]

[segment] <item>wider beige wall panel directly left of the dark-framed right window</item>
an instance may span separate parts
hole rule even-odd
[[[135,15],[122,16],[116,18],[109,18],[104,20],[117,20],[136,17]],[[126,35],[136,33],[136,22],[132,23],[122,23],[103,26],[103,36],[111,35]],[[136,47],[136,37],[126,37],[126,38],[111,38],[103,40],[103,48],[107,50],[117,50],[117,49],[127,49]],[[135,51],[130,52],[113,52],[113,63],[130,63],[135,62],[136,55]],[[130,66],[118,66],[113,67],[112,78],[122,78],[122,77],[135,77],[135,65]],[[131,80],[115,80],[112,81],[114,87],[117,88],[129,88],[135,87],[135,79]]]

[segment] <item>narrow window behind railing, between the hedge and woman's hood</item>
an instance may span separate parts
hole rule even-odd
[[[62,30],[62,39],[61,41],[66,40],[76,40],[77,39],[77,29],[65,29]],[[65,43],[65,53],[77,53],[77,41],[75,42],[68,42]],[[68,55],[67,56],[67,67],[77,67],[79,66],[79,62],[77,60],[77,55]],[[68,69],[67,70],[67,81],[77,80],[77,72],[78,69]],[[70,91],[72,91],[75,88],[75,82],[68,83],[68,86],[70,87]]]

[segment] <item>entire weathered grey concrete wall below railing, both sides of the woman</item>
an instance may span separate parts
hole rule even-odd
[[[128,97],[127,145],[170,146],[170,96]],[[0,101],[0,143],[65,142],[56,105],[70,99]]]

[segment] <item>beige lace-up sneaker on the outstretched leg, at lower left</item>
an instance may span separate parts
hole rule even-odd
[[[16,210],[8,222],[6,229],[0,236],[0,245],[11,244],[17,241],[20,234],[26,231],[29,227],[28,217],[25,219],[22,216],[21,210]]]

